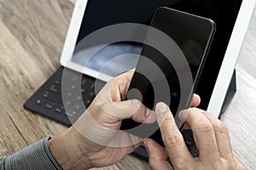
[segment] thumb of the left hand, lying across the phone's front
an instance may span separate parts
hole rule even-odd
[[[154,111],[149,110],[137,99],[107,102],[100,106],[105,113],[110,116],[118,117],[119,120],[132,118],[136,122],[143,123],[153,123],[156,121]]]

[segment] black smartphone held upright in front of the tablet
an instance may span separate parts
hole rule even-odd
[[[148,30],[126,99],[140,99],[151,110],[159,102],[166,103],[177,127],[181,128],[183,122],[177,113],[190,106],[216,25],[212,20],[195,14],[160,7],[155,11],[150,26],[167,37],[161,37],[160,41],[162,35],[152,36],[154,30]],[[172,42],[166,42],[168,38]],[[149,45],[148,41],[158,48]],[[121,129],[164,145],[157,122],[146,124],[126,119]]]

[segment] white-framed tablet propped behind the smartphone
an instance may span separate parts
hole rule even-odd
[[[108,81],[121,72],[136,67],[143,44],[116,42],[108,45],[96,54],[95,59],[86,62],[86,69],[84,69],[84,65],[81,63],[84,63],[86,56],[79,55],[79,52],[86,49],[76,50],[78,53],[74,54],[76,45],[84,37],[106,26],[121,23],[137,23],[149,26],[156,8],[163,6],[199,15],[213,20],[217,29],[195,93],[201,96],[199,107],[210,111],[214,116],[218,116],[230,85],[254,5],[255,0],[77,0],[61,54],[61,65],[74,71],[83,71],[84,74],[91,77],[98,78],[101,75],[100,78],[103,81]],[[116,55],[122,54],[135,55],[132,59],[123,57],[114,60]],[[109,60],[113,60],[113,62],[104,69],[106,72],[102,72],[102,67]]]

